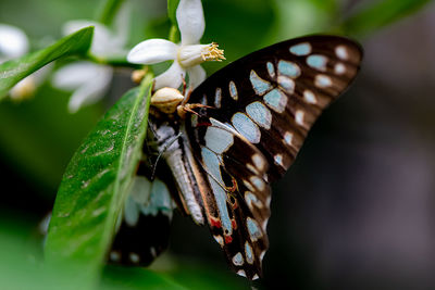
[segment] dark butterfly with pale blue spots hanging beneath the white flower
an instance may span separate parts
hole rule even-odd
[[[191,92],[188,103],[199,105],[185,117],[151,106],[145,151],[164,162],[139,165],[109,260],[149,264],[167,247],[178,207],[208,225],[235,273],[261,277],[270,184],[291,165],[361,60],[361,47],[344,37],[290,39],[211,75]]]

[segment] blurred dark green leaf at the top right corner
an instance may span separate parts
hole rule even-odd
[[[430,2],[431,0],[375,1],[347,18],[343,28],[348,35],[366,35],[417,12]]]

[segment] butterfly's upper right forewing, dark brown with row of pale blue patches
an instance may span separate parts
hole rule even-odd
[[[310,36],[253,52],[210,76],[190,96],[202,114],[232,125],[266,156],[269,180],[281,177],[322,110],[359,71],[351,40]]]

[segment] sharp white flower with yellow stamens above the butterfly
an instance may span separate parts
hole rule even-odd
[[[154,89],[171,87],[178,89],[186,76],[189,88],[194,89],[206,79],[206,71],[199,65],[209,60],[224,60],[223,51],[216,43],[200,45],[206,28],[200,0],[181,0],[176,18],[182,36],[179,45],[165,39],[148,39],[132,49],[127,61],[139,64],[156,64],[174,61],[171,67],[154,79]]]

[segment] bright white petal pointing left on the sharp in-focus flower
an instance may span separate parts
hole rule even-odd
[[[175,60],[178,46],[166,39],[148,39],[134,47],[127,55],[130,63],[154,64]]]

